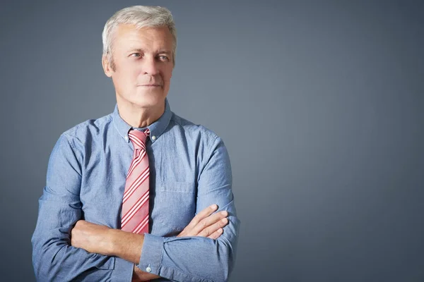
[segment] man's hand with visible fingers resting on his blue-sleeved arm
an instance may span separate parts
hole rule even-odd
[[[228,212],[212,214],[216,209],[218,209],[218,206],[213,204],[199,212],[177,237],[200,236],[218,239],[223,233],[223,227],[228,224]]]

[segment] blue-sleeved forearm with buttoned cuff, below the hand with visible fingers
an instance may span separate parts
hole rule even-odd
[[[239,221],[217,240],[204,237],[163,238],[146,234],[139,267],[173,281],[228,281],[235,262]]]

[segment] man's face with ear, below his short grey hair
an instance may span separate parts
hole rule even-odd
[[[167,27],[117,27],[112,41],[114,69],[109,64],[105,73],[112,77],[118,103],[163,106],[172,76],[172,44]]]

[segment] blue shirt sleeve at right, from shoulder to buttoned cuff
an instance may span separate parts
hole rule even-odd
[[[196,213],[211,204],[228,211],[228,225],[217,240],[203,237],[164,238],[145,234],[139,268],[172,281],[228,281],[234,264],[237,219],[227,149],[216,137],[199,172]]]

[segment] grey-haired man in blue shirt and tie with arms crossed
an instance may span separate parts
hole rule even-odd
[[[32,240],[37,281],[228,280],[240,225],[230,161],[220,137],[170,111],[175,33],[160,7],[107,21],[102,66],[117,106],[52,151]]]

